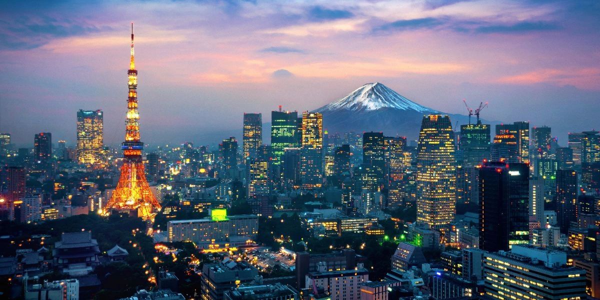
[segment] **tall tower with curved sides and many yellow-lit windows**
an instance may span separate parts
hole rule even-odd
[[[454,220],[456,162],[454,131],[447,115],[423,117],[417,154],[417,221],[440,226]]]

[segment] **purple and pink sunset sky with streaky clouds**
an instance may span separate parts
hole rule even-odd
[[[599,16],[598,1],[3,1],[0,131],[73,145],[76,111],[102,109],[121,142],[134,22],[146,143],[214,142],[243,112],[269,122],[382,82],[448,113],[489,101],[482,118],[565,145],[600,128]]]

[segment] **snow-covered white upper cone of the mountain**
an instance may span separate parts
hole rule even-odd
[[[346,97],[317,109],[317,112],[332,112],[335,110],[377,110],[391,108],[412,110],[420,113],[437,113],[437,110],[422,106],[408,100],[394,90],[379,82],[367,83]]]

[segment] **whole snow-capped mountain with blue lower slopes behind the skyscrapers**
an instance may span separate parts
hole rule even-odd
[[[467,124],[468,117],[443,113],[415,103],[382,83],[367,83],[340,100],[319,107],[323,129],[332,133],[381,131],[386,136],[416,139],[424,115],[449,115],[452,127]],[[458,128],[454,128],[457,130]]]

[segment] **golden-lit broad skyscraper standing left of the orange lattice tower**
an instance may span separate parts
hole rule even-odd
[[[103,146],[102,110],[77,111],[77,162],[86,165],[102,163]]]

